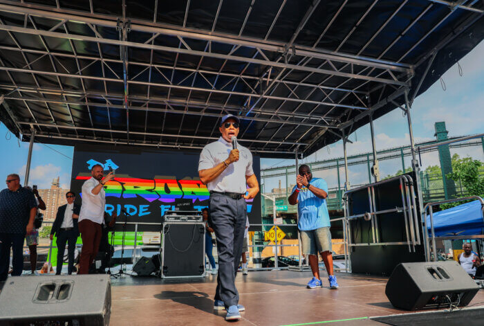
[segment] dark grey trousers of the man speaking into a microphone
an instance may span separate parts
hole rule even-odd
[[[241,260],[247,204],[245,199],[232,199],[210,194],[210,224],[215,232],[218,251],[218,275],[215,300],[225,307],[239,303],[235,275]]]

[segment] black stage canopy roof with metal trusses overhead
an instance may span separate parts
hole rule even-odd
[[[200,150],[241,117],[307,156],[425,91],[484,38],[483,1],[0,0],[0,118],[24,141]]]

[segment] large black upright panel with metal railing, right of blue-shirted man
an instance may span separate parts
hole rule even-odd
[[[353,273],[390,275],[401,262],[425,261],[415,184],[411,172],[346,192]]]

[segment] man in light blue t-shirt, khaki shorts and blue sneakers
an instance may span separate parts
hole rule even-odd
[[[289,196],[289,203],[297,205],[299,221],[297,227],[301,231],[302,251],[308,256],[313,278],[308,282],[309,289],[322,287],[323,282],[319,278],[319,266],[317,262],[318,253],[328,271],[329,286],[337,289],[335,275],[333,273],[333,256],[331,253],[331,224],[329,221],[328,206],[328,185],[326,181],[313,178],[308,165],[299,166],[299,174],[296,177],[296,185]]]

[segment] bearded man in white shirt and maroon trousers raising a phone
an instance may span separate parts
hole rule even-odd
[[[113,172],[103,179],[104,167],[96,164],[91,168],[91,179],[82,185],[82,206],[78,226],[82,237],[82,251],[79,261],[79,273],[89,273],[89,266],[99,250],[104,223],[104,205],[106,194],[104,184],[114,178]]]

